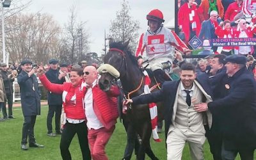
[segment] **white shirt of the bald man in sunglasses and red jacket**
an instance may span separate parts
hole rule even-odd
[[[92,84],[92,88],[96,85],[97,80],[95,80]],[[87,85],[88,86],[88,85]],[[84,95],[84,106],[85,106],[85,116],[87,119],[87,127],[88,129],[100,129],[104,127],[102,123],[99,121],[95,112],[93,110],[93,93],[92,88],[87,88],[87,92]]]

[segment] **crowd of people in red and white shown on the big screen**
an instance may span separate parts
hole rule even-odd
[[[177,19],[179,31],[184,33],[182,40],[189,46],[188,42],[193,36],[197,36],[202,42],[216,38],[253,38],[256,33],[255,6],[253,0],[178,1]],[[255,57],[255,48],[252,45],[215,46],[211,50],[215,54],[222,53],[227,56],[250,54]]]

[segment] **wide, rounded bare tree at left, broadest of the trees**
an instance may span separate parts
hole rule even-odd
[[[8,19],[6,51],[10,61],[29,58],[37,63],[47,63],[49,58],[59,58],[60,26],[47,14],[16,14]]]

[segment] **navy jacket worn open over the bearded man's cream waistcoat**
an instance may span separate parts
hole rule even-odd
[[[208,77],[205,74],[198,76],[198,78],[196,78],[196,81],[198,81],[198,83],[202,85],[202,87],[204,88],[205,92],[208,95],[212,95]],[[147,94],[147,95],[141,95],[139,97],[132,98],[133,104],[148,104],[151,102],[163,101],[164,127],[165,127],[166,138],[167,138],[169,127],[172,124],[173,104],[175,102],[175,97],[176,97],[179,83],[180,83],[180,80],[166,81],[164,82],[161,90]]]

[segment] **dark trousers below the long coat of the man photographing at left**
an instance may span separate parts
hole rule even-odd
[[[35,123],[36,123],[36,115],[24,116],[24,123],[22,127],[22,140],[21,140],[22,145],[26,145],[28,141],[29,143],[36,143],[35,135],[34,135]]]

